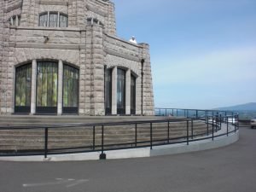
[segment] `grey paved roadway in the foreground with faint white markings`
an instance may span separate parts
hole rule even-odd
[[[256,130],[207,151],[129,160],[0,161],[2,192],[255,192]]]

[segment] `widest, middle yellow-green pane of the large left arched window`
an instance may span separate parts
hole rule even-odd
[[[38,62],[37,113],[57,113],[58,67]]]

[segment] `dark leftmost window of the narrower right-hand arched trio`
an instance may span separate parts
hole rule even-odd
[[[112,107],[112,70],[105,71],[105,113],[111,114]]]

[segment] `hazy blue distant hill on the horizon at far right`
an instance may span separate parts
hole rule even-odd
[[[239,119],[253,119],[256,117],[256,102],[216,109],[239,113]]]

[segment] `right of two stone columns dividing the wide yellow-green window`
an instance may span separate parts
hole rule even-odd
[[[58,67],[58,115],[62,114],[62,87],[63,87],[63,62],[59,61]]]

